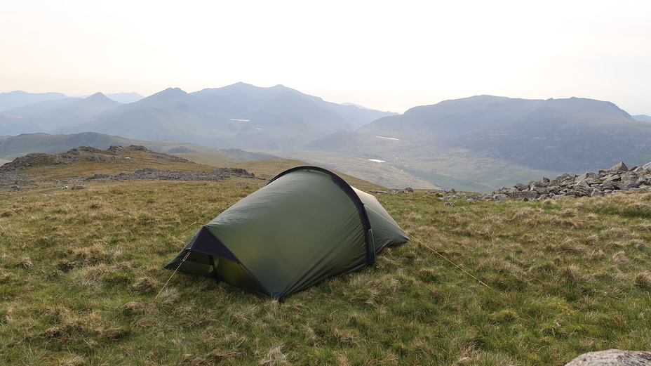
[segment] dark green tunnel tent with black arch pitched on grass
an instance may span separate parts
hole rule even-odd
[[[297,166],[222,212],[165,265],[272,299],[375,264],[408,237],[373,195]]]

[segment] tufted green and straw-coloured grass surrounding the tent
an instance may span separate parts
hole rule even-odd
[[[278,303],[163,269],[260,188],[237,182],[0,193],[0,365],[563,365],[651,349],[651,194],[379,195],[412,240]]]

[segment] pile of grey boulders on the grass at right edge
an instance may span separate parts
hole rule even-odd
[[[562,174],[550,180],[518,183],[513,188],[502,187],[492,192],[495,200],[559,200],[564,197],[598,197],[618,190],[651,190],[651,163],[629,169],[621,162],[598,173],[579,176]]]

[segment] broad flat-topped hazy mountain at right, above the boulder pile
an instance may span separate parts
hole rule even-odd
[[[445,100],[339,131],[304,149],[384,160],[443,187],[487,192],[543,175],[651,161],[651,124],[584,98]]]

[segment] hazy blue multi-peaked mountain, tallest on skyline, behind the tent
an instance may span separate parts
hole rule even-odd
[[[391,112],[329,103],[285,86],[237,83],[186,93],[169,88],[106,110],[58,133],[96,131],[127,138],[171,139],[222,148],[286,150]]]

